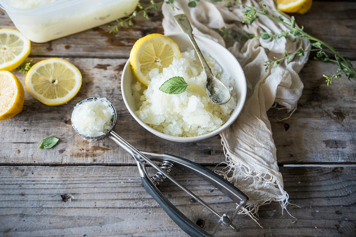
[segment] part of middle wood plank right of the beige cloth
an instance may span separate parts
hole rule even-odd
[[[268,111],[279,163],[355,163],[356,81],[342,77],[328,86],[323,74],[336,70],[310,60],[299,74],[304,89],[294,114],[278,121],[288,117],[286,110]]]

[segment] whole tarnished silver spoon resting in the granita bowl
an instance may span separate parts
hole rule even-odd
[[[217,79],[211,72],[211,69],[206,63],[197,42],[195,42],[192,34],[193,29],[190,25],[188,17],[185,14],[179,14],[174,16],[174,20],[178,23],[179,28],[188,35],[190,42],[192,42],[194,46],[195,52],[198,54],[201,65],[203,66],[206,74],[206,93],[208,94],[210,101],[215,104],[225,104],[231,98],[230,91],[226,88],[223,82]]]

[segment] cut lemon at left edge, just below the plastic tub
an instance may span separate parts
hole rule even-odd
[[[11,71],[30,54],[31,42],[15,29],[0,29],[0,70]]]

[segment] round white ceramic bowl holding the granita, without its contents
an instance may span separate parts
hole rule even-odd
[[[186,34],[177,33],[177,34],[167,34],[166,36],[168,36],[174,42],[177,43],[180,52],[187,51],[188,48],[193,49],[193,45],[190,43],[188,36]],[[199,141],[215,136],[216,134],[225,130],[235,121],[237,116],[239,116],[242,107],[245,104],[246,91],[247,91],[245,74],[242,71],[239,62],[236,60],[234,55],[232,55],[229,52],[229,50],[227,50],[225,47],[223,47],[222,45],[216,43],[211,39],[208,39],[203,36],[194,36],[194,38],[195,41],[197,41],[199,48],[202,51],[209,53],[210,56],[214,58],[221,65],[224,73],[231,75],[232,78],[235,79],[235,89],[237,90],[237,106],[232,112],[230,118],[226,121],[225,124],[220,126],[220,128],[216,129],[215,131],[212,131],[211,133],[200,135],[200,136],[194,136],[194,137],[172,136],[172,135],[161,133],[151,128],[146,123],[142,122],[142,120],[138,118],[137,115],[135,114],[135,111],[137,111],[138,108],[136,108],[135,99],[132,96],[132,91],[130,86],[133,82],[136,82],[136,79],[132,75],[131,67],[129,65],[129,60],[127,60],[124,70],[122,71],[122,76],[121,76],[122,98],[124,98],[125,105],[129,110],[130,114],[132,115],[132,117],[141,126],[143,126],[143,128],[147,129],[148,131],[155,134],[156,136],[159,136],[160,138],[167,139],[170,141],[193,142],[193,141]]]

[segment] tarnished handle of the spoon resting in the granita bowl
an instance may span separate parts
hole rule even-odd
[[[190,42],[192,42],[195,52],[197,52],[200,62],[203,65],[206,76],[210,76],[212,74],[211,69],[209,68],[208,64],[206,63],[204,56],[201,53],[201,51],[197,45],[197,42],[195,42],[195,39],[192,34],[193,29],[192,29],[192,26],[190,25],[187,15],[185,15],[185,14],[176,15],[176,16],[174,16],[174,20],[177,22],[179,28],[183,31],[183,33],[188,35],[189,40],[190,40]]]

